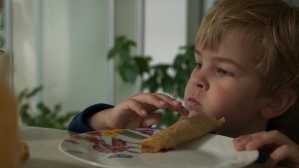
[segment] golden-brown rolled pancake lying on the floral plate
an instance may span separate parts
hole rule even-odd
[[[208,134],[217,127],[221,127],[224,122],[224,117],[217,120],[202,113],[196,114],[142,140],[140,147],[148,152],[173,148]]]

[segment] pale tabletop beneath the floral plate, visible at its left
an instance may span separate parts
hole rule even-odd
[[[21,139],[30,150],[30,159],[22,168],[94,168],[68,157],[59,150],[62,140],[78,133],[67,130],[21,126]],[[246,168],[263,168],[253,164]],[[278,168],[278,167],[277,167]]]

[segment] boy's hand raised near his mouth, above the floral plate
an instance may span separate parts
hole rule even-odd
[[[181,115],[188,111],[181,102],[162,93],[140,93],[129,97],[112,109],[96,113],[90,119],[95,130],[121,128],[149,128],[161,121],[158,109],[171,109]]]

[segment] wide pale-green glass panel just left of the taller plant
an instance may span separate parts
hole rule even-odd
[[[107,102],[108,0],[44,0],[43,9],[44,100],[68,110]]]

